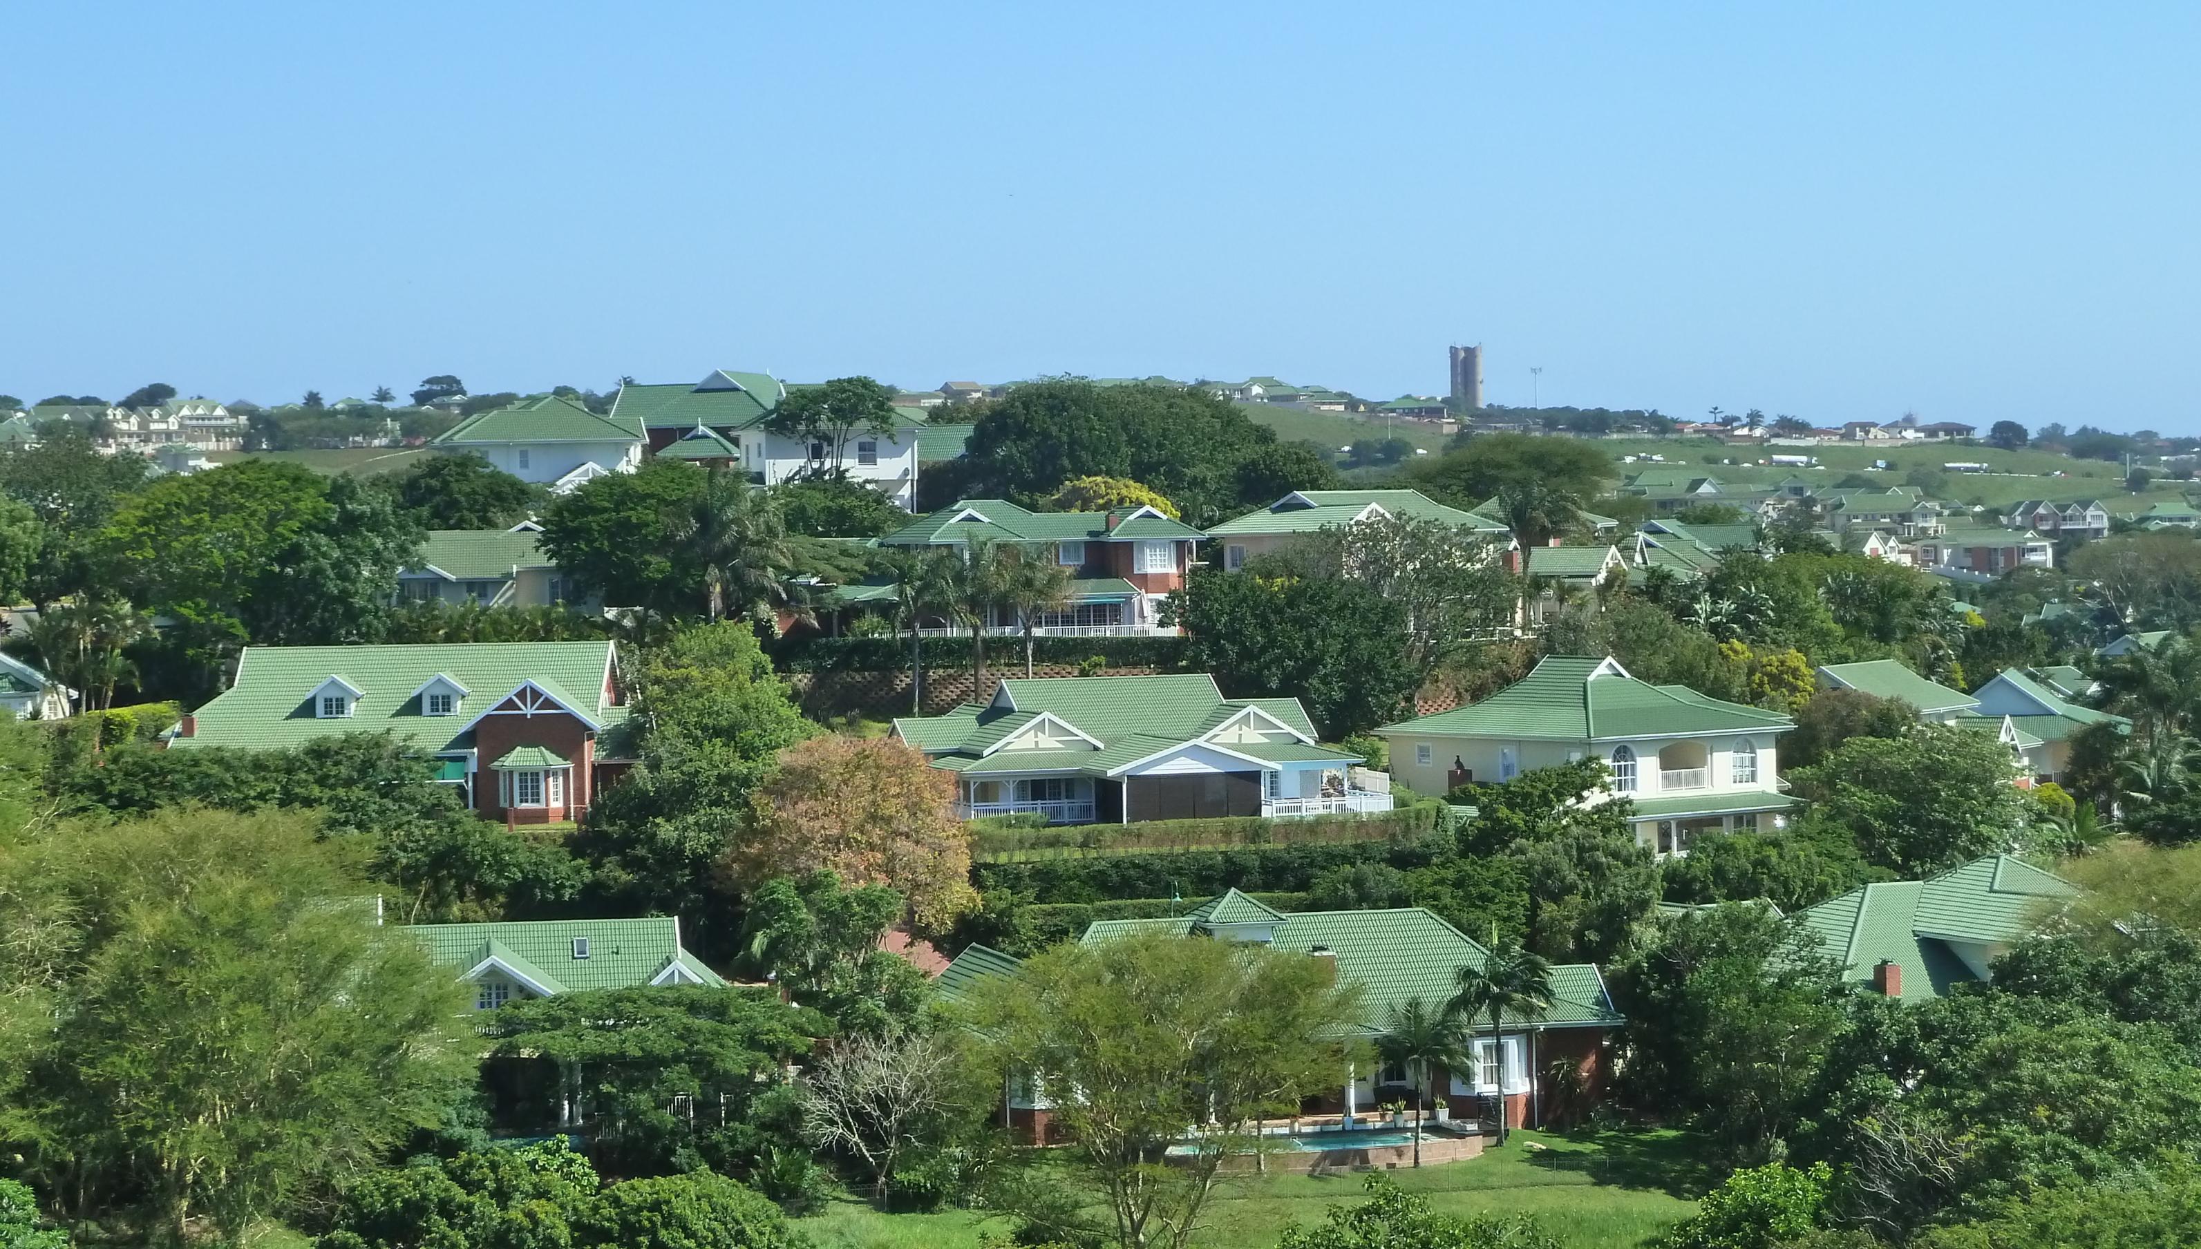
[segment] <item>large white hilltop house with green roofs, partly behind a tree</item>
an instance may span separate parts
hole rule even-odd
[[[929,429],[922,407],[896,407],[891,429],[861,429],[845,446],[832,446],[770,429],[784,398],[788,385],[770,374],[711,369],[700,383],[625,383],[612,416],[640,427],[654,455],[729,462],[757,486],[841,468],[900,508],[916,504],[920,438]]]

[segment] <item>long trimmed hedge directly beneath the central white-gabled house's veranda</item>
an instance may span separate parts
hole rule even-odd
[[[1138,820],[1131,825],[1052,825],[1039,829],[975,825],[971,829],[971,858],[973,862],[1041,862],[1228,847],[1409,842],[1439,827],[1448,829],[1444,820],[1446,807],[1442,803],[1417,803],[1380,816],[1312,816],[1292,820],[1233,816],[1211,820]]]

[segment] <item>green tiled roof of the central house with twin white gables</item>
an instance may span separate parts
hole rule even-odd
[[[931,756],[935,767],[964,774],[1078,772],[1109,776],[1151,754],[1200,741],[1230,719],[1259,708],[1299,739],[1268,743],[1213,743],[1263,763],[1349,763],[1356,754],[1314,745],[1314,723],[1299,699],[1226,699],[1204,673],[1151,677],[1039,677],[1006,679],[986,706],[964,704],[946,715],[902,717],[894,732]],[[1100,748],[1072,741],[1059,750],[990,748],[1041,715],[1072,726]],[[1270,728],[1270,732],[1274,732]]]

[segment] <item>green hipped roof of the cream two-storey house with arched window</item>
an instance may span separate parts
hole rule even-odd
[[[1376,732],[1605,741],[1794,728],[1785,715],[1719,701],[1688,686],[1638,682],[1616,660],[1545,655],[1479,704],[1389,723]]]

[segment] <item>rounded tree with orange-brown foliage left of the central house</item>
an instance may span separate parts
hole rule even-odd
[[[823,869],[894,888],[929,930],[977,902],[955,776],[902,741],[828,734],[790,745],[751,805],[751,827],[729,855],[744,886]]]

